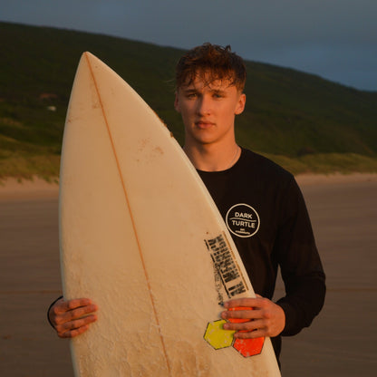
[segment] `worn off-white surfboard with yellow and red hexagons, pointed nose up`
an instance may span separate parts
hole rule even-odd
[[[236,341],[221,303],[254,296],[197,171],[150,107],[83,53],[63,134],[63,295],[98,321],[71,342],[76,376],[279,376],[269,339]]]

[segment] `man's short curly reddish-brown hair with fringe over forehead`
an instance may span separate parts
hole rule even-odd
[[[190,85],[197,77],[210,84],[215,80],[228,80],[242,92],[247,81],[247,69],[243,59],[232,53],[230,46],[204,43],[185,53],[176,67],[176,87]]]

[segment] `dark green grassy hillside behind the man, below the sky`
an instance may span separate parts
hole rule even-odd
[[[84,51],[140,93],[182,141],[173,109],[181,50],[100,34],[0,23],[0,177],[58,175],[63,124]],[[377,171],[377,92],[247,62],[237,140],[293,172]]]

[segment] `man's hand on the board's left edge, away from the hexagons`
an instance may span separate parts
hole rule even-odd
[[[78,298],[64,301],[60,299],[51,307],[48,316],[61,338],[73,338],[84,333],[97,320],[97,315],[92,314],[98,307],[89,298]],[[88,315],[89,314],[89,315]]]

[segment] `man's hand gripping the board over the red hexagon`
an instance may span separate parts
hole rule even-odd
[[[221,314],[223,319],[231,321],[233,318],[246,322],[228,322],[225,330],[235,330],[235,338],[259,338],[277,336],[285,328],[284,310],[267,298],[238,298],[224,304],[227,311]],[[242,309],[242,308],[249,309]],[[241,310],[235,310],[239,308]],[[250,310],[252,308],[252,310]]]

